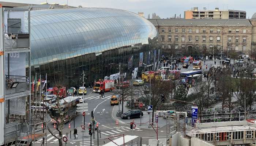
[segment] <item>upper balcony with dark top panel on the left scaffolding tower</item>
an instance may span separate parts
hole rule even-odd
[[[5,33],[4,47],[5,49],[29,47],[29,34],[28,33]]]

